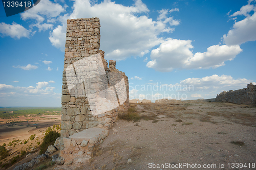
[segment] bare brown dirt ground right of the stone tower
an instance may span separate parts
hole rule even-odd
[[[62,168],[256,169],[255,107],[209,102],[131,106],[148,119],[118,119],[90,163]]]

